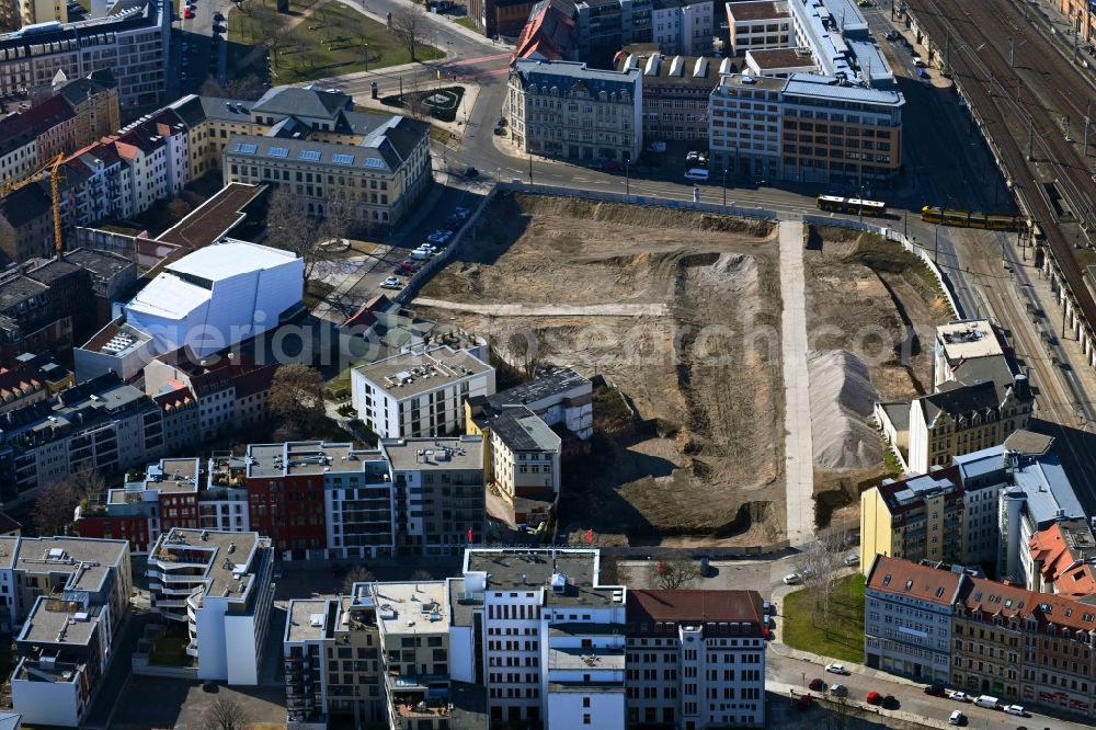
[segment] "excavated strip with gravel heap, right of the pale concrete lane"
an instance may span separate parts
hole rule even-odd
[[[859,488],[888,471],[872,404],[932,392],[935,328],[955,316],[899,243],[850,228],[806,238],[814,493],[822,521],[848,520]]]

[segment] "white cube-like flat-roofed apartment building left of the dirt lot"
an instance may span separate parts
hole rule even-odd
[[[494,368],[471,350],[427,347],[351,369],[354,410],[381,438],[464,433],[465,401],[492,393]]]

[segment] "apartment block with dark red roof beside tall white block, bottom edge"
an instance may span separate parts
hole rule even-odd
[[[755,591],[628,592],[628,726],[765,727]]]

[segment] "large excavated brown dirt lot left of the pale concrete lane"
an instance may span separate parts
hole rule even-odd
[[[609,384],[592,455],[564,466],[561,528],[593,528],[600,544],[783,537],[775,228],[525,195],[499,196],[484,220],[422,296],[570,313],[420,310],[486,333],[511,364]]]

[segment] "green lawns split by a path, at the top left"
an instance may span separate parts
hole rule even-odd
[[[288,18],[273,13],[267,5],[255,5],[249,12],[232,9],[228,15],[228,39],[237,46],[232,52],[233,61],[239,61],[255,45],[272,37],[271,28],[276,27],[272,24],[289,22]],[[364,71],[366,44],[370,70],[411,62],[407,47],[383,23],[343,3],[328,4],[300,20],[283,41],[277,66],[273,68],[276,78],[271,82],[299,83]],[[434,60],[442,55],[441,50],[431,46],[421,46],[415,50],[415,59],[420,61]],[[236,68],[238,77],[247,72],[249,69]]]

